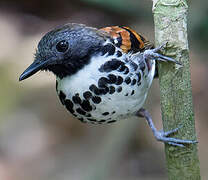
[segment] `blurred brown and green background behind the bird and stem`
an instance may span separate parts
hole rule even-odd
[[[189,46],[203,179],[208,178],[208,1],[189,1]],[[0,1],[0,179],[165,180],[163,144],[144,119],[82,124],[63,108],[55,77],[41,72],[23,82],[41,36],[67,22],[127,25],[154,41],[147,0]],[[158,80],[145,107],[161,128]]]

